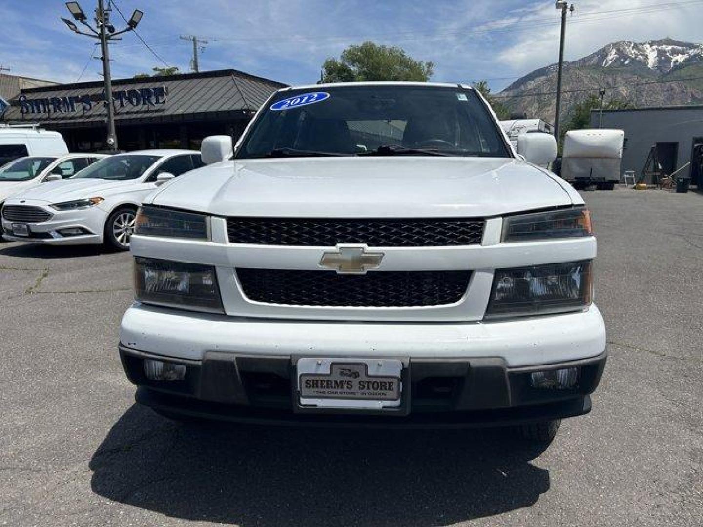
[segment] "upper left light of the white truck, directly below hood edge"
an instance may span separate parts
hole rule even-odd
[[[159,207],[140,207],[135,234],[163,238],[207,240],[205,215]]]

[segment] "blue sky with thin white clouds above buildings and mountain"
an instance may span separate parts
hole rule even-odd
[[[434,81],[489,79],[496,91],[554,63],[558,53],[553,1],[115,1],[128,18],[135,8],[144,11],[139,34],[181,71],[189,70],[192,48],[179,36],[197,34],[209,41],[201,70],[231,67],[287,84],[316,82],[325,58],[366,39],[431,60]],[[91,17],[96,0],[80,4]],[[702,15],[702,0],[581,0],[569,17],[566,57],[580,58],[622,39],[699,41]],[[70,18],[63,1],[0,0],[0,65],[57,82],[100,79],[101,64],[90,59],[93,41],[70,32],[60,16]],[[112,22],[124,26],[116,11]],[[124,34],[110,49],[115,78],[163,65],[134,34]]]

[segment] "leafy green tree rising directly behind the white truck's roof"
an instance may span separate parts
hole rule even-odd
[[[328,58],[322,67],[323,82],[427,82],[434,72],[432,63],[415,60],[401,48],[370,41],[349,46],[339,60]]]

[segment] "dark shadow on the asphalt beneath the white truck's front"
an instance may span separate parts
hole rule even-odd
[[[542,451],[505,431],[194,427],[134,405],[90,467],[98,495],[179,519],[443,526],[533,505]]]

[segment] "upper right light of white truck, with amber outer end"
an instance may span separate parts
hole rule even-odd
[[[588,209],[562,209],[503,219],[503,242],[531,242],[593,236]]]

